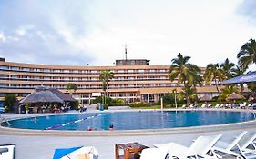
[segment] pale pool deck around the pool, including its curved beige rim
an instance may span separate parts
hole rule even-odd
[[[189,110],[189,109],[188,109]],[[208,109],[207,109],[208,110]],[[212,109],[216,110],[216,109]],[[128,110],[131,111],[131,110]],[[133,110],[132,110],[133,111]],[[138,111],[138,110],[136,110]],[[141,110],[144,111],[144,110]],[[148,111],[148,110],[145,110]],[[174,110],[175,111],[175,110]],[[178,110],[180,111],[180,110]],[[183,110],[182,110],[183,111]],[[248,111],[248,110],[225,110]],[[106,111],[107,112],[107,111]],[[255,111],[254,111],[255,112]],[[6,119],[24,118],[46,114],[3,114]],[[51,115],[51,114],[47,114]],[[115,144],[138,142],[152,146],[175,142],[189,146],[192,140],[200,135],[222,134],[223,140],[231,141],[232,137],[246,130],[256,132],[256,121],[242,124],[221,124],[190,128],[175,128],[143,131],[36,131],[0,127],[0,144],[16,144],[16,159],[52,158],[56,148],[93,145],[99,152],[100,159],[115,158]],[[49,133],[48,133],[49,132]]]

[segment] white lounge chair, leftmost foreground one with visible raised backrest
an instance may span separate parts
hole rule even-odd
[[[217,159],[212,146],[220,139],[221,134],[200,136],[189,147],[176,143],[156,144],[156,147],[168,148],[169,157],[185,159],[188,157]]]

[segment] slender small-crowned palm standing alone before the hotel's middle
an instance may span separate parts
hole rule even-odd
[[[105,96],[105,104],[106,104],[106,92],[108,96],[108,81],[112,78],[114,78],[114,73],[110,70],[103,70],[99,75],[99,79],[102,81],[102,87],[103,87],[104,96]]]

